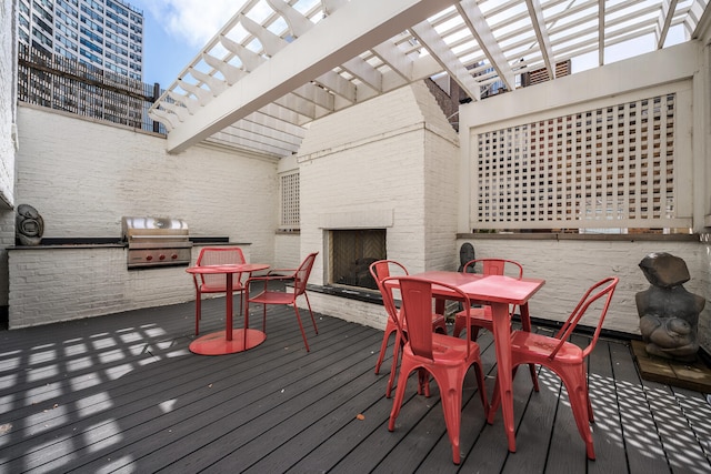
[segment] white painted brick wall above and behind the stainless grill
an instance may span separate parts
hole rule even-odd
[[[40,212],[46,238],[120,238],[122,215],[171,216],[273,261],[274,161],[203,145],[168,154],[161,137],[31,107],[19,127],[18,202]]]

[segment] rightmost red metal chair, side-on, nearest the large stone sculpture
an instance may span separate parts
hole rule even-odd
[[[513,367],[514,375],[515,369],[519,365],[540,364],[552,370],[560,376],[568,391],[575,424],[578,425],[580,436],[585,442],[585,451],[590,460],[595,458],[589,425],[589,422],[594,422],[594,417],[590,403],[585,359],[590,355],[598,342],[602,323],[604,322],[604,316],[608,314],[610,301],[612,300],[612,294],[614,293],[618,282],[619,279],[617,276],[609,276],[590,286],[553,337],[527,331],[513,331],[511,333],[511,366]],[[595,303],[593,309],[595,311],[598,309],[600,310],[600,316],[590,344],[585,347],[580,347],[568,342],[588,309],[598,300],[600,300],[600,302]],[[499,396],[499,384],[497,383],[493,392],[493,403],[488,416],[489,423],[493,422],[493,416],[500,403],[501,397]]]

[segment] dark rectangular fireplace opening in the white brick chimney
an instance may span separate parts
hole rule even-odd
[[[333,230],[329,240],[329,283],[378,290],[370,264],[388,258],[385,230]]]

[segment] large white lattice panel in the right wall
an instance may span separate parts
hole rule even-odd
[[[605,228],[675,216],[675,94],[477,135],[474,225]]]

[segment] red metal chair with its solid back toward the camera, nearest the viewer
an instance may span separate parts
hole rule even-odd
[[[440,389],[444,423],[452,444],[452,460],[454,464],[459,464],[462,386],[464,376],[472,365],[477,371],[479,395],[484,407],[484,414],[488,414],[489,405],[484,390],[479,344],[470,337],[462,340],[432,332],[432,285],[445,286],[457,293],[458,297],[464,302],[467,319],[469,319],[471,302],[467,294],[454,286],[414,276],[391,276],[382,282],[383,288],[387,290],[383,292],[383,299],[391,306],[394,305],[394,302],[389,283],[390,285],[397,284],[400,288],[402,309],[400,313],[395,313],[395,323],[404,340],[404,346],[388,430],[393,431],[395,427],[395,418],[400,413],[408,376],[415,370],[425,371],[434,377]],[[404,324],[408,326],[407,332],[403,331]]]

